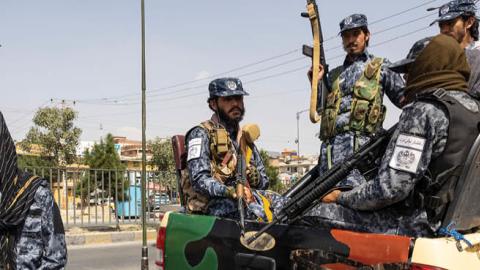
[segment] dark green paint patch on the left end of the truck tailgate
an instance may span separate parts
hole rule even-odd
[[[212,216],[171,213],[165,239],[165,269],[217,269],[217,254],[211,247],[207,248],[203,259],[196,266],[191,266],[185,257],[187,244],[206,237],[216,220]]]

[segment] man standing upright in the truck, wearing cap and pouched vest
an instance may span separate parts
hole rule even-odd
[[[386,58],[373,56],[367,50],[367,17],[353,14],[343,19],[340,34],[347,56],[342,66],[327,74],[332,89],[323,89],[328,96],[321,119],[320,174],[342,162],[382,128],[386,113],[384,93],[398,107],[403,98],[402,77],[386,68]],[[323,75],[321,66],[320,79]],[[356,185],[350,180],[357,174],[353,171],[341,185]]]

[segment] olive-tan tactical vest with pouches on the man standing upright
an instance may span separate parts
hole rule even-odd
[[[372,134],[382,126],[386,113],[386,107],[382,103],[382,86],[380,85],[382,63],[383,58],[378,57],[367,63],[361,77],[353,87],[349,123],[340,128],[336,127],[336,122],[337,116],[341,113],[340,74],[343,72],[343,67],[332,71],[333,86],[327,96],[320,128],[320,138],[323,141],[346,131]]]

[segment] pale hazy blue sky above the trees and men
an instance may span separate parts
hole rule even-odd
[[[396,61],[438,33],[445,0],[317,0],[331,68],[345,53],[339,22],[364,13],[369,52]],[[297,149],[296,113],[309,106],[311,44],[300,0],[145,0],[147,139],[184,134],[211,115],[208,83],[239,77],[250,93],[242,123],[257,123],[269,151]],[[140,0],[1,0],[0,111],[22,140],[39,107],[71,106],[81,139],[141,139]],[[387,100],[387,98],[386,98]],[[385,127],[400,111],[388,106]],[[299,119],[300,153],[317,154],[318,124]]]

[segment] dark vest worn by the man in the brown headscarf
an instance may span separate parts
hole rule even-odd
[[[427,173],[414,191],[417,206],[425,207],[429,221],[436,223],[443,219],[453,200],[465,160],[479,134],[480,112],[469,111],[443,89],[417,100],[442,104],[449,118],[445,149],[430,162]]]

